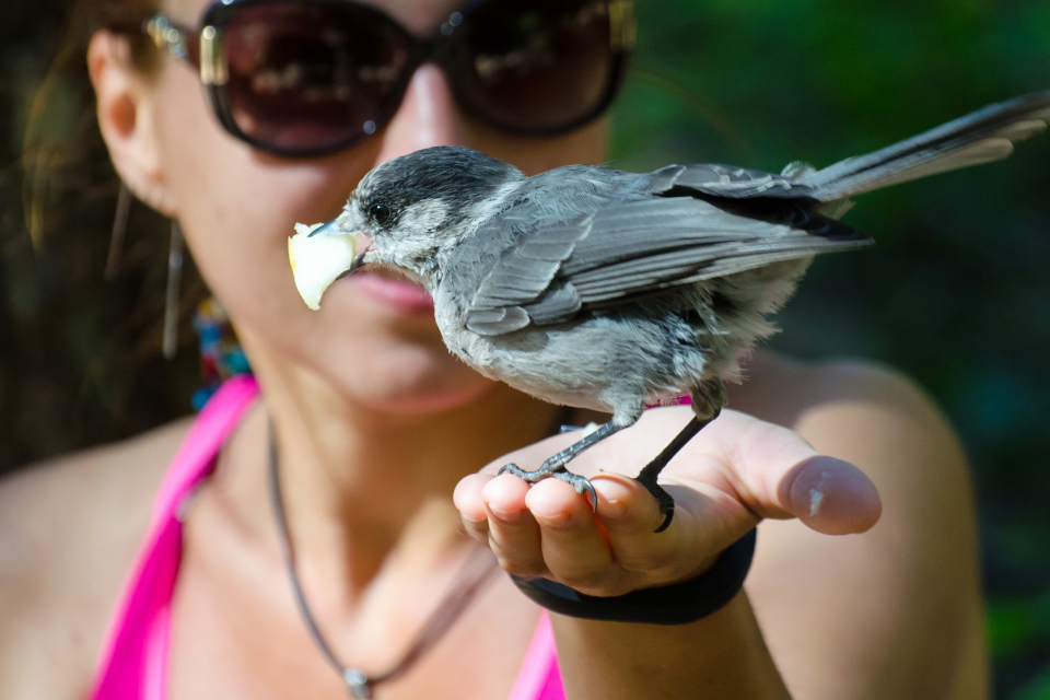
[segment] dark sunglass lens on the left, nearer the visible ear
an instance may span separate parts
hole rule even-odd
[[[225,49],[233,121],[277,151],[323,151],[382,128],[408,79],[400,30],[349,3],[243,7]]]

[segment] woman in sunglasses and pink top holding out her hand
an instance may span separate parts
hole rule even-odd
[[[428,300],[404,280],[354,276],[317,313],[298,298],[285,247],[292,224],[330,219],[386,159],[462,143],[526,173],[603,161],[606,124],[592,117],[616,71],[587,70],[596,56],[611,60],[619,39],[594,35],[610,45],[582,60],[547,42],[551,26],[622,19],[621,3],[492,0],[460,14],[451,0],[380,0],[411,35],[475,37],[456,44],[467,60],[406,61],[402,97],[386,78],[416,49],[374,10],[338,3],[308,20],[291,0],[252,14],[255,4],[185,0],[155,10],[163,19],[149,25],[152,37],[167,49],[159,55],[140,46],[151,13],[92,37],[88,62],[113,163],[138,198],[180,223],[261,394],[254,400],[254,384],[241,381],[196,432],[182,421],[2,486],[0,695],[345,697],[359,680],[349,672],[374,678],[399,666],[374,686],[378,697],[559,697],[562,682],[573,699],[985,692],[965,459],[905,380],[756,355],[748,382],[731,387],[740,412],[726,411],[665,470],[677,511],[655,534],[655,502],[618,475],[635,474],[688,410],[650,411],[573,463],[603,471],[595,514],[564,483],[528,488],[492,475],[512,459],[535,466],[571,442],[550,438],[558,424],[599,417],[563,415],[455,361]],[[198,55],[197,36],[220,46],[215,34],[197,34],[202,12],[226,22],[230,74],[179,60]],[[486,44],[511,32],[528,50]],[[262,70],[260,47],[279,52],[266,44],[275,33],[291,34],[280,48],[294,60]],[[312,50],[332,42],[376,62],[357,67],[350,95],[329,73],[311,72]],[[555,61],[559,81],[579,82],[564,92],[551,86],[559,81],[522,83],[510,95],[486,86],[486,77],[529,61]],[[331,74],[336,63],[326,66]],[[574,109],[560,109],[567,104]],[[522,133],[529,129],[548,133]],[[184,440],[191,447],[176,471],[214,470],[199,488],[172,491],[171,478],[160,485]],[[175,495],[167,520],[151,524],[159,488]],[[552,674],[540,608],[509,578],[486,578],[476,553],[481,541],[511,573],[618,596],[700,580],[763,520],[745,592],[702,619],[551,616]],[[864,534],[827,536],[847,533]],[[175,558],[158,560],[174,561],[177,576],[153,571],[147,581],[160,540]],[[458,609],[454,594],[470,590]],[[136,596],[152,600],[145,622],[129,612]],[[444,609],[455,619],[442,619]],[[126,639],[147,651],[131,657]],[[416,644],[422,653],[407,653]],[[121,678],[132,679],[132,695],[115,690],[127,689]]]

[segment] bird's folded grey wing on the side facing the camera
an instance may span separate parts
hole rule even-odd
[[[667,288],[870,243],[791,200],[639,197],[547,221],[549,212],[524,201],[479,229],[514,243],[470,299],[468,328],[492,336],[563,323]]]

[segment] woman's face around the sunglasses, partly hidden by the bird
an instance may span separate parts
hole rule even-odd
[[[375,0],[418,35],[431,35],[456,0]],[[205,0],[176,0],[173,20],[196,27]],[[443,72],[420,68],[393,121],[349,150],[290,160],[235,140],[219,125],[191,68],[165,58],[153,91],[159,172],[198,267],[230,311],[253,362],[305,373],[377,409],[427,411],[495,389],[445,349],[429,298],[407,282],[343,278],[319,312],[292,282],[295,222],[338,214],[358,180],[383,161],[431,145],[463,144],[527,174],[600,162],[603,120],[556,138],[516,137],[467,118]]]

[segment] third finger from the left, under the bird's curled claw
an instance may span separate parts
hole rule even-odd
[[[626,593],[622,569],[586,499],[568,483],[546,479],[533,486],[526,504],[539,524],[544,561],[551,578],[591,595]]]

